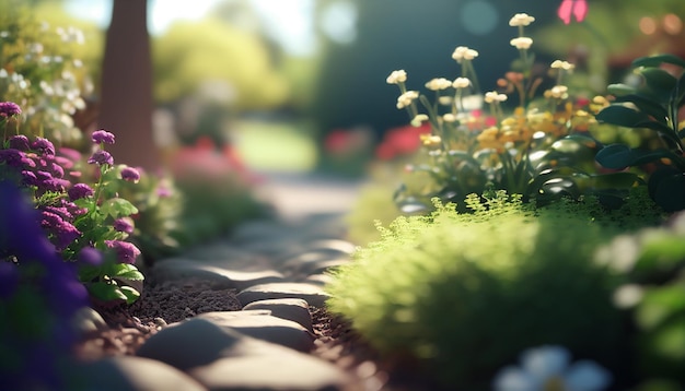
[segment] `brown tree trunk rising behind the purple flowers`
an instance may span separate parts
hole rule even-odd
[[[152,134],[152,58],[147,0],[114,0],[102,70],[98,127],[113,132],[115,163],[161,166]]]

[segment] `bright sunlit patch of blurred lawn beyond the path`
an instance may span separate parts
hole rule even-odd
[[[304,171],[317,152],[306,123],[245,119],[234,126],[233,140],[245,164],[256,170]]]

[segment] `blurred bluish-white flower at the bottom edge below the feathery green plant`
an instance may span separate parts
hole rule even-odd
[[[569,366],[570,354],[561,346],[541,346],[523,352],[521,367],[501,369],[495,391],[601,391],[611,383],[611,374],[590,360]]]

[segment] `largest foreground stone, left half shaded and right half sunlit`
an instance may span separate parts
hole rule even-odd
[[[210,390],[337,390],[349,382],[330,363],[200,318],[159,331],[138,355],[174,366]]]

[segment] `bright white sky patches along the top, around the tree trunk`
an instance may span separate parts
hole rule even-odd
[[[177,20],[199,20],[220,0],[149,0],[148,27],[150,33],[164,33]],[[314,22],[312,12],[315,0],[251,0],[255,9],[276,31],[283,48],[293,55],[307,55],[314,47]],[[67,10],[101,26],[109,23],[112,0],[68,0]]]

